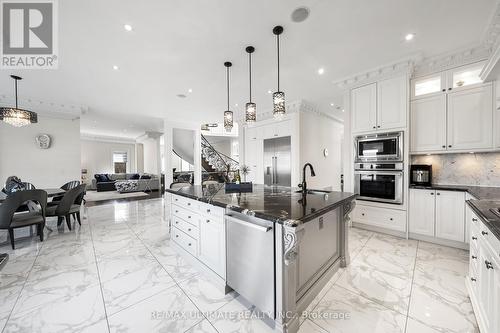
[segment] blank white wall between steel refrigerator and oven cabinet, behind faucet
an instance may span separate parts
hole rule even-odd
[[[307,170],[308,188],[340,191],[343,135],[344,125],[338,121],[311,113],[300,114],[300,165],[309,162],[316,172],[316,177],[311,177]]]

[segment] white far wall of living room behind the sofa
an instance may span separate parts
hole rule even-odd
[[[127,172],[137,172],[134,143],[96,141],[82,138],[82,169],[87,169],[87,179],[91,181],[96,173],[114,173],[113,152],[126,151]]]

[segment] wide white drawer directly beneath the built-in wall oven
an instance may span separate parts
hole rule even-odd
[[[353,221],[397,231],[406,231],[406,212],[402,210],[357,205]]]

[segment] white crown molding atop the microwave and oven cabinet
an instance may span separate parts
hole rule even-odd
[[[342,90],[359,87],[374,81],[393,77],[400,74],[410,75],[414,64],[420,59],[420,54],[382,65],[366,72],[354,74],[343,79],[333,81],[333,84]]]

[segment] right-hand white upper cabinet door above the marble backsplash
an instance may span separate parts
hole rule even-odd
[[[481,149],[493,145],[491,85],[448,94],[448,148]]]

